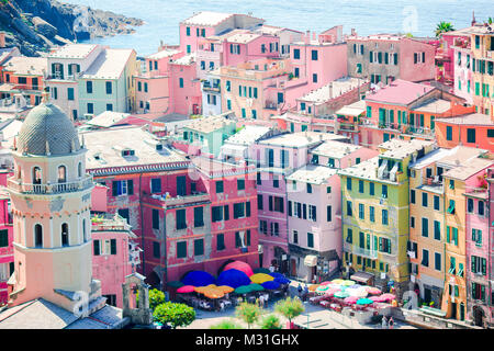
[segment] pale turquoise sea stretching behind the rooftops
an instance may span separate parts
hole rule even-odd
[[[412,33],[433,36],[439,21],[456,29],[494,16],[493,0],[60,0],[139,18],[136,33],[94,39],[112,47],[132,47],[137,55],[155,53],[160,41],[179,43],[180,21],[199,11],[251,13],[268,24],[321,32],[343,24],[344,33]]]

